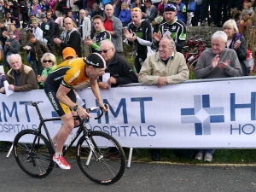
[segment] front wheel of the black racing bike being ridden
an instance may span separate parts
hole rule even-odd
[[[79,139],[76,158],[80,170],[94,183],[115,183],[125,172],[123,148],[102,131],[89,131],[88,142],[84,136]]]

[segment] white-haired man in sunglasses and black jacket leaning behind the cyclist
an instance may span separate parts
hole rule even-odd
[[[108,81],[103,82],[100,77],[99,87],[102,90],[117,87],[122,84],[138,83],[137,75],[132,71],[131,66],[125,59],[118,55],[110,40],[103,40],[101,43],[102,57],[107,62],[105,73],[110,73]],[[106,74],[104,74],[106,75]],[[104,76],[103,75],[103,76]]]

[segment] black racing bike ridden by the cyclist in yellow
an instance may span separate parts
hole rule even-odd
[[[23,172],[36,178],[42,178],[49,175],[53,168],[58,167],[52,160],[55,154],[54,143],[49,136],[49,131],[45,122],[61,120],[60,118],[44,119],[38,108],[39,102],[27,102],[36,108],[40,119],[40,124],[36,130],[20,131],[15,137],[13,143],[13,153],[15,160]],[[99,117],[102,117],[102,108],[87,108],[89,113],[92,110],[101,110]],[[68,148],[77,140],[75,155],[80,170],[92,182],[98,184],[112,184],[123,176],[125,172],[125,153],[120,144],[112,136],[102,131],[91,131],[84,123],[84,119],[79,119],[78,131],[73,134],[70,142],[63,148],[63,155],[67,154]],[[46,137],[42,134],[43,131]],[[74,130],[73,130],[74,131]]]

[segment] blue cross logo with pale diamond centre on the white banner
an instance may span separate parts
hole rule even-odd
[[[224,122],[224,108],[210,108],[210,96],[194,96],[194,108],[181,108],[181,123],[195,124],[195,135],[211,135],[212,123]]]

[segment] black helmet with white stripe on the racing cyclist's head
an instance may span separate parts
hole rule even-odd
[[[92,53],[87,57],[84,57],[84,62],[86,65],[96,67],[96,68],[104,68],[106,67],[106,61],[99,53]]]

